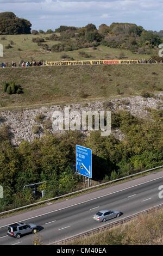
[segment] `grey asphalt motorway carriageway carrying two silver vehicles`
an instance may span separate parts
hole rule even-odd
[[[163,170],[72,199],[48,204],[39,209],[0,219],[0,245],[32,245],[34,234],[15,239],[7,236],[7,225],[18,221],[40,226],[38,233],[43,245],[80,234],[84,231],[115,222],[98,223],[93,214],[102,209],[119,210],[124,218],[163,203],[159,186],[163,185]]]

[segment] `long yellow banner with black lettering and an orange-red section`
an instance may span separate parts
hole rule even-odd
[[[137,59],[109,59],[109,60],[78,60],[62,62],[46,62],[47,66],[77,66],[77,65],[117,65],[117,64],[137,64]]]

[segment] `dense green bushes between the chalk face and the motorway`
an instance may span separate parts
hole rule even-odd
[[[75,173],[75,146],[92,149],[92,179],[104,182],[140,170],[163,164],[163,111],[148,109],[150,122],[133,117],[127,111],[112,113],[112,129],[120,129],[124,139],[114,135],[102,137],[92,131],[86,137],[77,131],[56,135],[46,132],[33,142],[23,141],[18,147],[11,143],[10,127],[0,129],[0,184],[4,198],[0,210],[36,202],[35,196],[24,185],[47,181],[38,187],[45,198],[51,198],[83,188],[82,178]],[[0,121],[1,120],[0,118]]]

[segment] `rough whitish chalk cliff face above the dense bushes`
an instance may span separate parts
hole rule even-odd
[[[73,120],[74,115],[72,111],[77,111],[78,115],[82,111],[118,111],[118,109],[125,109],[132,115],[139,118],[150,118],[148,108],[163,109],[163,93],[156,95],[153,98],[145,99],[141,96],[123,97],[120,99],[108,100],[103,102],[86,103],[83,105],[66,105],[66,106],[51,106],[41,107],[35,109],[23,109],[13,111],[0,111],[0,127],[8,125],[12,133],[12,143],[17,145],[21,141],[33,141],[34,138],[41,137],[46,131],[53,131],[52,115],[55,111],[64,113],[64,107],[70,108],[70,121]],[[118,139],[123,139],[123,134],[120,130],[112,130],[112,133]],[[88,133],[86,133],[87,135]]]

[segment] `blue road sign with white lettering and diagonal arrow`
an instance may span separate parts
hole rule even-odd
[[[76,145],[77,173],[92,178],[92,149]]]

